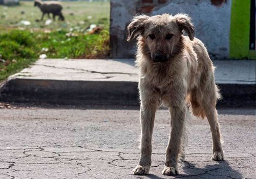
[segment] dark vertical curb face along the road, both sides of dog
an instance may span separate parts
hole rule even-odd
[[[4,102],[60,105],[139,105],[138,83],[131,81],[62,81],[11,79],[1,89]],[[219,84],[219,106],[255,106],[255,85]]]

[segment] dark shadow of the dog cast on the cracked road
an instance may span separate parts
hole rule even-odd
[[[185,174],[173,175],[170,178],[205,178],[205,177],[215,177],[215,178],[243,178],[242,174],[233,169],[227,161],[221,161],[214,165],[206,165],[204,168],[198,168],[195,164],[190,162],[184,162],[183,171]],[[145,178],[151,179],[165,179],[169,178],[168,176],[157,176],[154,174],[146,175]]]

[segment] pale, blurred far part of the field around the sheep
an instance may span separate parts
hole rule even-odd
[[[1,30],[8,28],[23,27],[47,28],[47,29],[68,29],[72,27],[87,28],[91,24],[108,25],[110,18],[110,3],[88,3],[88,2],[62,2],[62,13],[65,16],[65,22],[55,21],[50,26],[45,25],[48,19],[45,15],[44,21],[41,18],[41,11],[34,7],[33,2],[20,2],[20,6],[0,6],[0,27]],[[30,21],[31,25],[25,26],[20,22],[22,20]]]

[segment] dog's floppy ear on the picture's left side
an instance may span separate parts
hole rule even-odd
[[[132,19],[129,26],[127,26],[127,31],[128,31],[127,41],[131,41],[132,39],[134,39],[135,37],[143,33],[143,30],[148,18],[150,18],[150,16],[138,15]]]

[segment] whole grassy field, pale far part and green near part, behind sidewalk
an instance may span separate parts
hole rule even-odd
[[[0,81],[39,58],[107,58],[110,3],[62,2],[65,21],[39,21],[33,2],[0,6]],[[23,20],[30,25],[23,25]],[[90,25],[99,31],[92,32]]]

